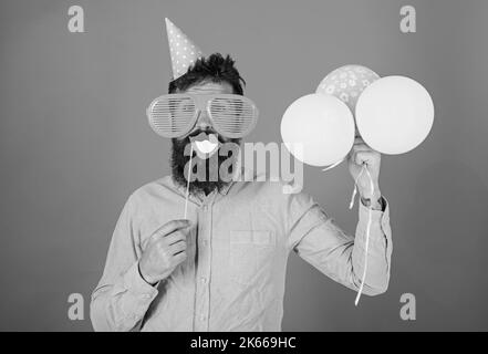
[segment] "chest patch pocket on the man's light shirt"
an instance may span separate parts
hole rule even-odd
[[[276,250],[270,230],[230,231],[230,278],[245,285],[271,277]]]

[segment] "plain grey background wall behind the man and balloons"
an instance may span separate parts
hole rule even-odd
[[[85,33],[68,31],[82,6]],[[417,33],[398,29],[417,10]],[[333,69],[419,81],[436,121],[384,156],[394,238],[386,294],[363,296],[292,254],[284,331],[488,330],[488,2],[485,0],[11,0],[0,4],[0,330],[91,331],[90,293],[128,195],[169,173],[145,118],[170,79],[168,17],[206,53],[237,59],[261,112],[250,142],[280,142],[282,113]],[[353,232],[345,165],[305,167],[305,190]],[[85,320],[68,319],[68,296]],[[399,317],[403,293],[417,320]]]

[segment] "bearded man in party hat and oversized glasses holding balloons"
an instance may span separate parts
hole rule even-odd
[[[189,180],[190,158],[195,166],[209,167],[209,157],[224,144],[241,143],[242,129],[219,121],[227,108],[215,108],[215,100],[252,104],[243,97],[243,80],[230,56],[204,58],[178,28],[169,21],[167,27],[175,80],[160,98],[172,102],[166,112],[172,122],[159,128],[178,135],[173,137],[172,176],[138,188],[126,201],[92,294],[94,329],[280,331],[290,251],[345,287],[384,293],[392,231],[378,185],[381,155],[360,138],[349,154],[361,195],[355,236],[305,192],[284,194],[281,183]],[[218,165],[228,157],[219,156]],[[361,175],[364,166],[373,189],[368,176]]]

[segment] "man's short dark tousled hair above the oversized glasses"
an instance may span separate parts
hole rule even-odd
[[[220,53],[214,53],[208,58],[200,58],[183,76],[169,83],[168,93],[186,91],[188,87],[203,82],[227,82],[232,87],[235,94],[243,95],[241,83],[246,85],[246,81],[239,75],[233,64],[235,61],[229,54],[226,58]]]

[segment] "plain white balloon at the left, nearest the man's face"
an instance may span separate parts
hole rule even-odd
[[[294,101],[281,121],[290,153],[308,165],[329,166],[343,159],[354,144],[354,117],[339,98],[310,94]]]

